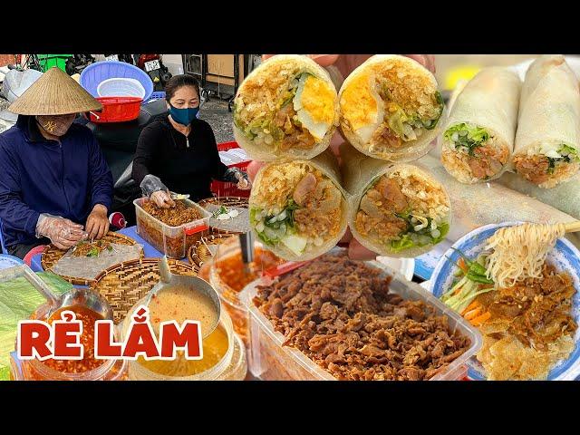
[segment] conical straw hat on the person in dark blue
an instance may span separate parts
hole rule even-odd
[[[53,67],[43,73],[8,110],[19,115],[65,115],[100,111],[102,104],[67,73]]]

